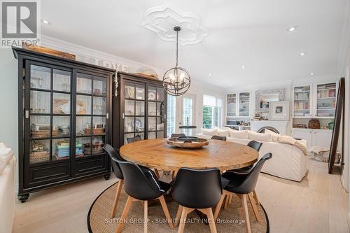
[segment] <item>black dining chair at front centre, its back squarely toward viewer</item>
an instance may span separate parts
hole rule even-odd
[[[207,215],[211,232],[216,232],[211,207],[218,204],[222,193],[219,169],[179,169],[172,188],[172,197],[180,205],[176,214],[179,233],[185,228],[188,213],[195,209]]]

